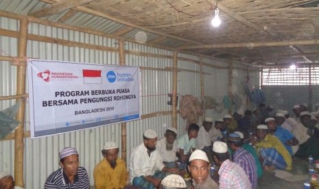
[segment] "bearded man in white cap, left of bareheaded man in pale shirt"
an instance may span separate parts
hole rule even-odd
[[[156,142],[156,149],[161,155],[163,163],[168,168],[176,168],[176,153],[178,146],[176,141],[177,130],[174,127],[168,127],[165,131],[164,137]]]

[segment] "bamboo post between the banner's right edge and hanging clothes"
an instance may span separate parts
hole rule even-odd
[[[177,69],[177,51],[174,51],[173,68]],[[173,72],[172,127],[177,129],[177,71]]]

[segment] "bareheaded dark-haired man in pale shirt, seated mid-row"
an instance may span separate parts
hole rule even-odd
[[[191,123],[188,127],[187,134],[178,138],[178,164],[180,164],[181,169],[187,168],[189,155],[196,149],[195,138],[198,136],[199,130],[200,127],[196,123]]]

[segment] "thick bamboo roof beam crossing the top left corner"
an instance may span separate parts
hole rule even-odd
[[[57,14],[63,12],[64,10],[68,10],[71,8],[78,7],[80,5],[84,5],[86,3],[90,3],[94,0],[63,0],[53,3],[50,6],[47,6],[41,10],[37,10],[35,12],[29,12],[28,16],[34,16],[37,18],[43,18],[46,16],[51,16],[53,14]]]

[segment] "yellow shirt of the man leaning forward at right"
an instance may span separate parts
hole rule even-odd
[[[266,135],[263,141],[256,143],[257,151],[260,150],[260,148],[274,148],[280,155],[283,156],[283,160],[285,160],[287,167],[287,170],[292,170],[292,156],[287,151],[283,143],[280,142],[276,136],[272,136],[270,134]]]

